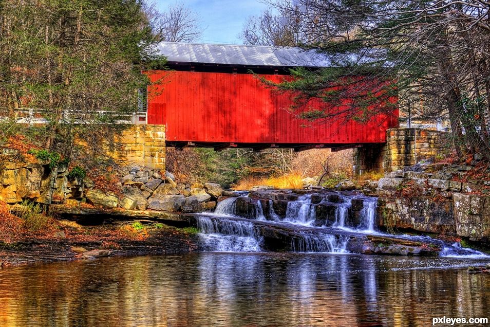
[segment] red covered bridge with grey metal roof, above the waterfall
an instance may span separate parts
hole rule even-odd
[[[365,124],[299,119],[289,111],[291,95],[265,86],[249,73],[280,82],[291,79],[291,67],[329,65],[312,52],[172,42],[161,43],[159,50],[172,70],[147,72],[150,80],[160,81],[149,90],[147,123],[166,125],[167,146],[344,149],[384,143],[386,130],[398,126],[398,110]]]

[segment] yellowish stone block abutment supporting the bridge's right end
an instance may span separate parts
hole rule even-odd
[[[385,144],[354,149],[354,175],[370,170],[391,172],[444,153],[452,148],[449,135],[425,129],[389,129]]]

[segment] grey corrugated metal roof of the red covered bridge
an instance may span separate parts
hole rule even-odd
[[[298,47],[161,42],[157,49],[169,62],[278,67],[330,66],[330,61],[322,54]]]

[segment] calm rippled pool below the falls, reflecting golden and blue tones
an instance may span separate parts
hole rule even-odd
[[[14,267],[0,270],[0,324],[428,326],[432,317],[490,317],[490,275],[438,268],[470,262],[196,253]]]

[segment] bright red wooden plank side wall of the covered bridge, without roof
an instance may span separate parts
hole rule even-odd
[[[148,123],[166,124],[167,141],[349,144],[386,141],[398,126],[398,110],[367,124],[297,119],[290,96],[265,87],[250,74],[152,71]],[[290,78],[263,75],[268,80]],[[396,99],[394,99],[395,101]],[[319,104],[319,103],[317,103]]]

